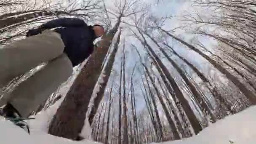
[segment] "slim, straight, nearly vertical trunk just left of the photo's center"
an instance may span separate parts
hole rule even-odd
[[[127,101],[126,101],[126,89],[125,89],[125,41],[123,44],[123,144],[128,144],[128,120],[127,120]]]

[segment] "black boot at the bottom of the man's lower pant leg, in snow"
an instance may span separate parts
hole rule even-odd
[[[31,118],[21,118],[18,110],[15,109],[11,104],[6,104],[1,110],[0,115],[30,133],[29,125],[24,120],[28,120]]]

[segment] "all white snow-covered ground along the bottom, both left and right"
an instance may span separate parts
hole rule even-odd
[[[0,120],[0,144],[100,144],[97,142],[71,141],[47,134],[48,122],[56,112],[61,101],[58,101],[45,112],[35,116],[29,122],[31,134],[11,122]],[[198,135],[180,141],[164,142],[164,144],[256,144],[256,106],[248,108],[236,115],[231,115],[205,128]],[[91,128],[85,120],[82,136],[90,138]]]

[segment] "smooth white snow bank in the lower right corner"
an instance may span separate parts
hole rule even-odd
[[[198,135],[163,144],[256,144],[256,106],[211,124]]]

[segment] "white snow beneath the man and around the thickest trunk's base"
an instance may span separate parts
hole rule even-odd
[[[53,106],[46,111],[40,112],[35,116],[36,120],[29,120],[27,123],[30,126],[30,135],[23,129],[6,121],[3,117],[0,118],[0,144],[101,144],[88,139],[83,141],[72,141],[69,139],[52,136],[47,133],[48,125],[56,113],[62,100],[57,101]],[[85,131],[85,128],[87,131]],[[80,134],[84,138],[91,138],[91,127],[88,119],[85,119],[85,126]]]

